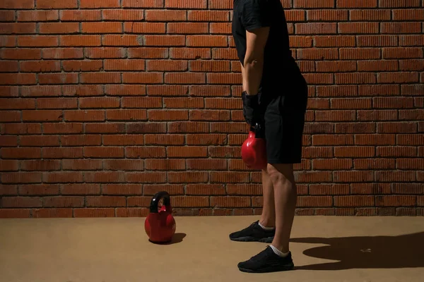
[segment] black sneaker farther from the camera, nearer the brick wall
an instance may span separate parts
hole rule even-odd
[[[265,230],[259,226],[259,221],[255,221],[247,228],[230,234],[230,240],[238,242],[263,242],[272,243],[276,229]]]

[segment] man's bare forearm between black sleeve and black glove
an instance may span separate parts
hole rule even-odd
[[[269,27],[259,27],[246,31],[247,50],[244,67],[242,66],[243,90],[256,95],[261,84],[264,70],[264,51],[269,35]]]

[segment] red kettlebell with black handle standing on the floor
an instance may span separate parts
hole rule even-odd
[[[158,203],[163,199],[163,206],[158,210]],[[150,213],[144,221],[144,229],[152,243],[167,243],[175,234],[177,223],[172,216],[170,195],[168,192],[157,192],[150,205]]]

